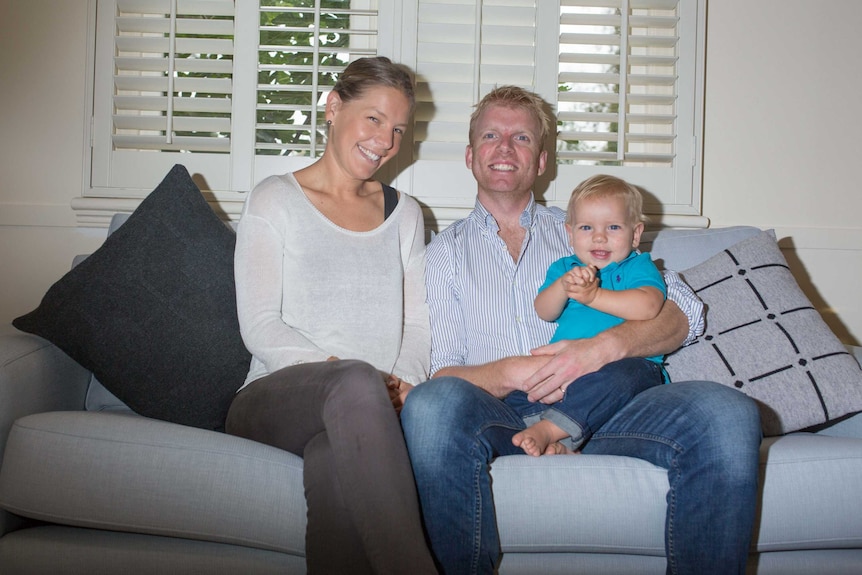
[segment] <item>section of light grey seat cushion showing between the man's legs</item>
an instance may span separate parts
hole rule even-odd
[[[617,455],[509,455],[491,478],[504,555],[665,554],[666,469]]]

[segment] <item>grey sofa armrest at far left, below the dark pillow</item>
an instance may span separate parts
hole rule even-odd
[[[0,326],[0,461],[19,417],[84,409],[90,372],[57,346],[11,325]],[[0,534],[16,522],[0,511]]]

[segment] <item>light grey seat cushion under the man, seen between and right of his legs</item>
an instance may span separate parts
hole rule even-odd
[[[511,455],[495,459],[491,474],[504,564],[510,554],[529,552],[664,556],[666,469],[613,455]],[[765,439],[752,550],[862,546],[860,478],[858,438],[793,433]]]

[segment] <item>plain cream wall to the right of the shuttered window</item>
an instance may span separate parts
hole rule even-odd
[[[862,340],[862,2],[709,2],[703,211],[775,228],[839,337]]]

